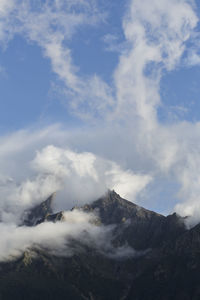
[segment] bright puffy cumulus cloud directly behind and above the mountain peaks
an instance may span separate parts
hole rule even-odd
[[[30,137],[30,133],[27,134]],[[41,135],[44,143],[44,139],[48,141],[49,134],[46,131],[46,136]],[[24,138],[26,134],[22,133],[22,136]],[[11,143],[12,137],[8,140]],[[13,147],[20,141],[19,134],[13,138]],[[6,142],[7,139],[5,144]],[[1,175],[0,186],[1,219],[4,222],[19,222],[25,209],[40,203],[55,191],[58,191],[55,209],[62,210],[96,200],[108,188],[115,189],[122,196],[128,196],[134,201],[137,194],[152,180],[151,176],[123,170],[117,163],[89,152],[79,153],[64,146],[43,147],[40,132],[37,142],[39,149],[36,154],[34,151],[29,153],[34,145],[34,138],[29,142],[26,139],[23,146],[21,144],[20,154],[16,153],[17,150],[14,153],[4,153],[2,150],[0,154],[2,162],[5,159],[16,160],[16,165],[12,165],[12,168],[9,168],[9,163],[2,165],[2,171],[3,167],[7,171],[7,175]],[[3,146],[2,143],[2,149]],[[23,167],[27,168],[24,174]],[[22,169],[20,176],[19,169]]]

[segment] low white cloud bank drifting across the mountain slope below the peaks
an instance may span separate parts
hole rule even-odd
[[[97,216],[80,210],[64,212],[62,221],[44,222],[34,227],[0,224],[0,261],[14,260],[26,250],[43,249],[50,254],[68,257],[89,246],[111,258],[138,256],[129,246],[112,246],[114,226],[95,225]]]

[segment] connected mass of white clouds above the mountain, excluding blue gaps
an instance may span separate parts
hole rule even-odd
[[[84,133],[53,127],[2,137],[1,172],[17,181],[15,187],[10,184],[18,199],[29,205],[63,189],[69,199],[82,202],[113,186],[122,196],[137,201],[152,178],[159,182],[164,177],[180,184],[176,197],[183,200],[176,209],[183,214],[187,207],[195,211],[200,191],[199,123],[163,125],[157,118],[162,72],[179,65],[187,41],[194,37],[198,18],[193,1],[130,1],[123,21],[126,49],[113,73],[112,87],[97,75],[79,76],[69,46],[79,28],[102,20],[94,2],[53,3],[41,2],[39,9],[30,9],[31,1],[3,1],[0,39],[5,42],[18,32],[37,43],[64,82],[72,110],[86,118],[101,115],[104,124],[96,122],[96,127]],[[194,63],[199,64],[197,57]],[[112,121],[106,122],[107,118]],[[33,161],[35,150],[38,154]],[[34,169],[29,168],[30,161]],[[33,191],[37,191],[34,196]],[[5,199],[7,193],[4,187]],[[13,196],[9,197],[12,203]],[[7,210],[5,219],[9,219]]]

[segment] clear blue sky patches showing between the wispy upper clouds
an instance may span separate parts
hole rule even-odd
[[[92,28],[80,28],[67,42],[81,76],[98,74],[112,84],[120,48],[126,47],[122,21],[127,5],[128,2],[123,1],[107,2],[107,5],[101,2],[101,11],[106,9],[105,20]],[[109,43],[113,45],[109,46]],[[60,85],[62,89],[62,82],[37,43],[27,40],[22,34],[14,36],[6,47],[1,48],[0,63],[2,133],[32,126],[36,122],[82,124],[67,109],[66,96],[54,92],[53,86]],[[158,108],[161,122],[199,120],[199,73],[198,65],[184,63],[172,71],[164,71],[160,83],[162,104]]]

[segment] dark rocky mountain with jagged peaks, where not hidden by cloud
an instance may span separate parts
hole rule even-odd
[[[26,212],[24,225],[63,222],[63,212],[52,212],[52,199]],[[0,264],[0,299],[200,299],[200,224],[187,229],[176,213],[162,216],[114,191],[73,210],[94,213],[95,226],[112,229],[112,247],[131,247],[135,255],[111,257],[83,244],[63,257],[33,247]]]

